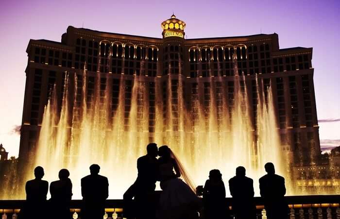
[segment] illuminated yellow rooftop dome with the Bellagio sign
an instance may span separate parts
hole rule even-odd
[[[162,22],[162,35],[163,38],[169,37],[169,36],[176,36],[176,37],[182,37],[184,38],[184,29],[186,28],[186,23],[180,19],[177,19],[174,14],[170,17],[170,19],[167,19]]]

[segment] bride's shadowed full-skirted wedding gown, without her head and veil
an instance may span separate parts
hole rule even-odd
[[[162,193],[160,195],[160,218],[182,219],[196,218],[200,199],[181,179],[175,177],[173,163],[159,165]]]

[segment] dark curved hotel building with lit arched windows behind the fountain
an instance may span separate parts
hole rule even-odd
[[[119,80],[122,77],[127,80],[124,91],[124,112],[127,113],[131,108],[129,92],[131,93],[134,77],[143,78],[149,93],[146,126],[150,141],[154,141],[154,133],[157,132],[154,116],[157,105],[154,96],[158,89],[156,83],[160,84],[159,92],[162,97],[158,101],[163,101],[164,105],[170,93],[171,100],[178,103],[182,94],[178,95],[173,91],[178,86],[183,87],[183,103],[190,111],[192,123],[197,113],[195,101],[201,102],[203,106],[209,105],[210,97],[206,93],[214,89],[217,127],[220,127],[222,116],[219,111],[219,94],[223,93],[227,108],[230,108],[234,104],[230,96],[234,95],[235,75],[238,74],[244,82],[243,91],[246,87],[251,129],[254,131],[257,129],[255,80],[259,78],[265,87],[271,86],[275,124],[282,151],[291,157],[291,163],[295,165],[316,162],[321,152],[313,83],[314,69],[311,62],[312,48],[280,49],[278,35],[275,33],[186,39],[186,24],[175,16],[164,21],[161,27],[162,38],[105,33],[69,26],[67,33],[62,35],[61,42],[31,39],[26,51],[28,64],[25,70],[20,161],[29,160],[31,152],[34,152],[44,108],[51,98],[51,91],[56,90],[60,103],[65,72],[80,78],[85,68],[88,95],[96,86],[95,78],[98,73],[102,84],[110,81],[111,115],[118,110]],[[165,88],[169,78],[171,87],[175,87],[171,91]],[[211,81],[216,82],[214,87],[211,87]],[[81,89],[80,83],[78,85],[79,87],[72,89]],[[104,88],[101,89],[103,90]],[[80,106],[80,99],[73,100],[71,107]],[[166,111],[167,107],[164,106],[164,114]],[[177,111],[178,109],[172,107],[173,131],[182,129],[179,125],[176,126]],[[142,114],[142,109],[139,113]],[[207,114],[206,110],[204,114]],[[164,119],[165,117],[166,115]],[[69,125],[71,122],[68,121]],[[195,125],[185,128],[194,132]]]

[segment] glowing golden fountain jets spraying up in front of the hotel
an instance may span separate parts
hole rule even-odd
[[[136,178],[136,159],[145,153],[148,142],[155,141],[168,144],[178,154],[198,185],[204,184],[210,169],[220,169],[227,182],[236,167],[244,166],[254,178],[258,195],[256,182],[265,174],[265,162],[273,162],[278,173],[285,175],[282,155],[278,155],[272,91],[256,78],[255,131],[247,96],[249,81],[238,74],[236,54],[233,59],[233,80],[225,80],[218,70],[216,77],[204,82],[197,78],[190,84],[197,91],[189,94],[190,106],[184,98],[187,84],[183,84],[181,60],[179,74],[171,74],[170,66],[166,81],[145,80],[142,69],[138,75],[119,78],[103,77],[100,71],[89,74],[85,69],[83,74],[65,74],[61,104],[54,87],[45,107],[34,165],[45,168],[44,178],[50,182],[57,180],[61,168],[68,168],[73,198],[79,199],[80,179],[97,163],[101,174],[109,178],[109,198],[121,198]],[[149,132],[153,121],[154,132]],[[31,174],[32,169],[27,171]]]

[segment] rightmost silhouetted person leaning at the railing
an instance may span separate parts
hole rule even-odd
[[[259,179],[260,194],[265,202],[268,219],[287,219],[289,214],[288,204],[285,200],[285,178],[275,174],[272,163],[267,163],[264,168],[267,175]]]

